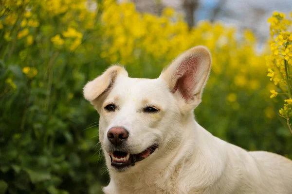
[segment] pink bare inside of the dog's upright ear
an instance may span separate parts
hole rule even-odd
[[[179,79],[172,90],[173,93],[179,90],[186,100],[193,97],[193,90],[197,84],[195,74],[198,69],[198,65],[199,63],[197,57],[188,58],[181,63],[175,73],[175,77],[179,77]]]

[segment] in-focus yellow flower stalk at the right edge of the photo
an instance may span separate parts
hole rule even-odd
[[[292,18],[289,19],[283,13],[274,12],[268,22],[271,34],[271,54],[266,57],[268,77],[277,86],[279,92],[271,90],[271,98],[277,95],[283,95],[286,98],[284,108],[279,110],[279,114],[287,119],[290,128],[289,119],[292,116]]]

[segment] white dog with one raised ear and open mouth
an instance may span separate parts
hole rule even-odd
[[[292,161],[247,152],[195,121],[210,66],[209,51],[195,47],[158,79],[111,66],[86,84],[84,97],[100,115],[106,194],[292,194]]]

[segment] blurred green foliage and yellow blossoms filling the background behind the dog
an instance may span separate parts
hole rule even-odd
[[[234,29],[208,22],[189,31],[170,9],[162,17],[141,15],[131,3],[110,0],[0,2],[0,194],[101,193],[109,176],[98,114],[83,86],[110,63],[127,65],[131,77],[155,78],[199,44],[211,50],[213,70],[195,110],[198,122],[237,146],[292,158],[251,32],[236,40]],[[144,32],[129,30],[135,22]]]

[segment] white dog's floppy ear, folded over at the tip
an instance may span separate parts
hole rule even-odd
[[[121,66],[111,66],[102,75],[89,81],[83,88],[83,95],[88,101],[93,101],[106,91],[120,76],[127,76],[128,72]]]

